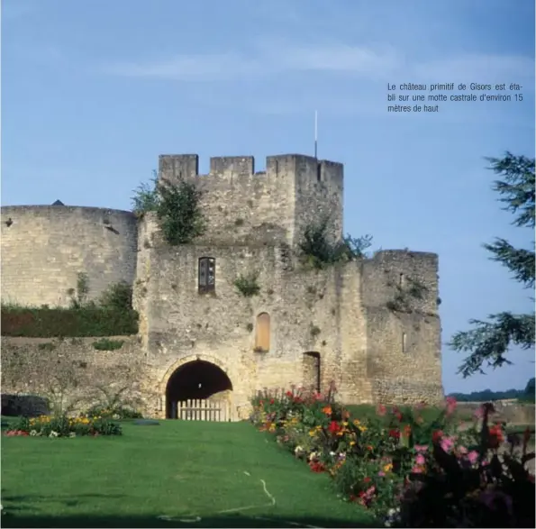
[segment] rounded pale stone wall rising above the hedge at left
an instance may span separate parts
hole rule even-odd
[[[132,284],[137,220],[127,211],[65,205],[14,205],[1,210],[2,302],[68,306],[77,274],[89,297],[113,283]]]

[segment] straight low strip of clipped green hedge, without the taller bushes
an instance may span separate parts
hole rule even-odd
[[[138,333],[138,313],[98,306],[29,308],[2,306],[2,336],[56,338]]]

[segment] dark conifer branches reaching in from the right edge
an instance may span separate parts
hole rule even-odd
[[[488,158],[495,175],[502,179],[495,180],[496,191],[505,211],[515,214],[513,225],[534,230],[534,159],[513,156],[506,152],[503,159]],[[534,287],[534,251],[514,248],[501,238],[484,244],[484,248],[495,260],[509,269],[513,278],[525,288]],[[534,244],[532,242],[532,249]],[[458,352],[469,352],[468,358],[459,367],[459,373],[466,379],[477,372],[483,373],[482,365],[497,368],[511,364],[506,353],[512,346],[524,350],[534,347],[534,312],[513,315],[502,312],[489,315],[488,321],[469,320],[473,329],[454,334],[449,343],[450,348]]]

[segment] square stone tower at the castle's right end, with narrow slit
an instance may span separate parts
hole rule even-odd
[[[375,400],[432,404],[443,398],[438,280],[432,253],[378,251],[365,261],[368,377]]]

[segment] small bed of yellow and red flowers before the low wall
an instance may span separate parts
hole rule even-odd
[[[5,435],[32,437],[77,437],[83,435],[121,435],[119,424],[100,416],[71,418],[66,415],[41,415],[41,417],[19,417]]]

